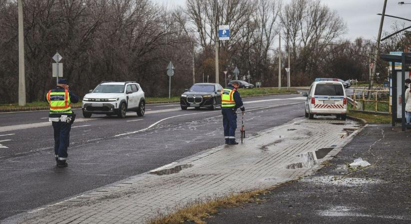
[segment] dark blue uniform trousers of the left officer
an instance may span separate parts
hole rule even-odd
[[[69,146],[71,123],[53,121],[54,129],[54,154],[56,161],[67,160],[67,147]]]

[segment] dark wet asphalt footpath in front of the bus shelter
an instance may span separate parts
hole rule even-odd
[[[400,131],[389,125],[370,125],[315,174],[261,195],[259,204],[221,209],[205,221],[409,224],[411,132]],[[359,157],[371,166],[347,167]]]

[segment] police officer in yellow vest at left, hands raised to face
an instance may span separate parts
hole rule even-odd
[[[71,103],[77,103],[79,98],[69,91],[67,80],[59,79],[57,87],[48,91],[46,100],[50,105],[49,121],[53,122],[57,167],[66,167],[70,129],[75,118],[75,114],[71,111]]]

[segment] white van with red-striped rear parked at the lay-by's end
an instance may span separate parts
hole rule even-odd
[[[347,96],[341,82],[313,82],[309,93],[303,93],[305,117],[314,118],[315,114],[336,115],[337,119],[347,118]]]

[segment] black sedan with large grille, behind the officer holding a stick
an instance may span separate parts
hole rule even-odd
[[[188,107],[199,109],[200,107],[215,110],[221,107],[221,92],[223,87],[216,83],[196,83],[180,97],[180,106],[182,110]]]

